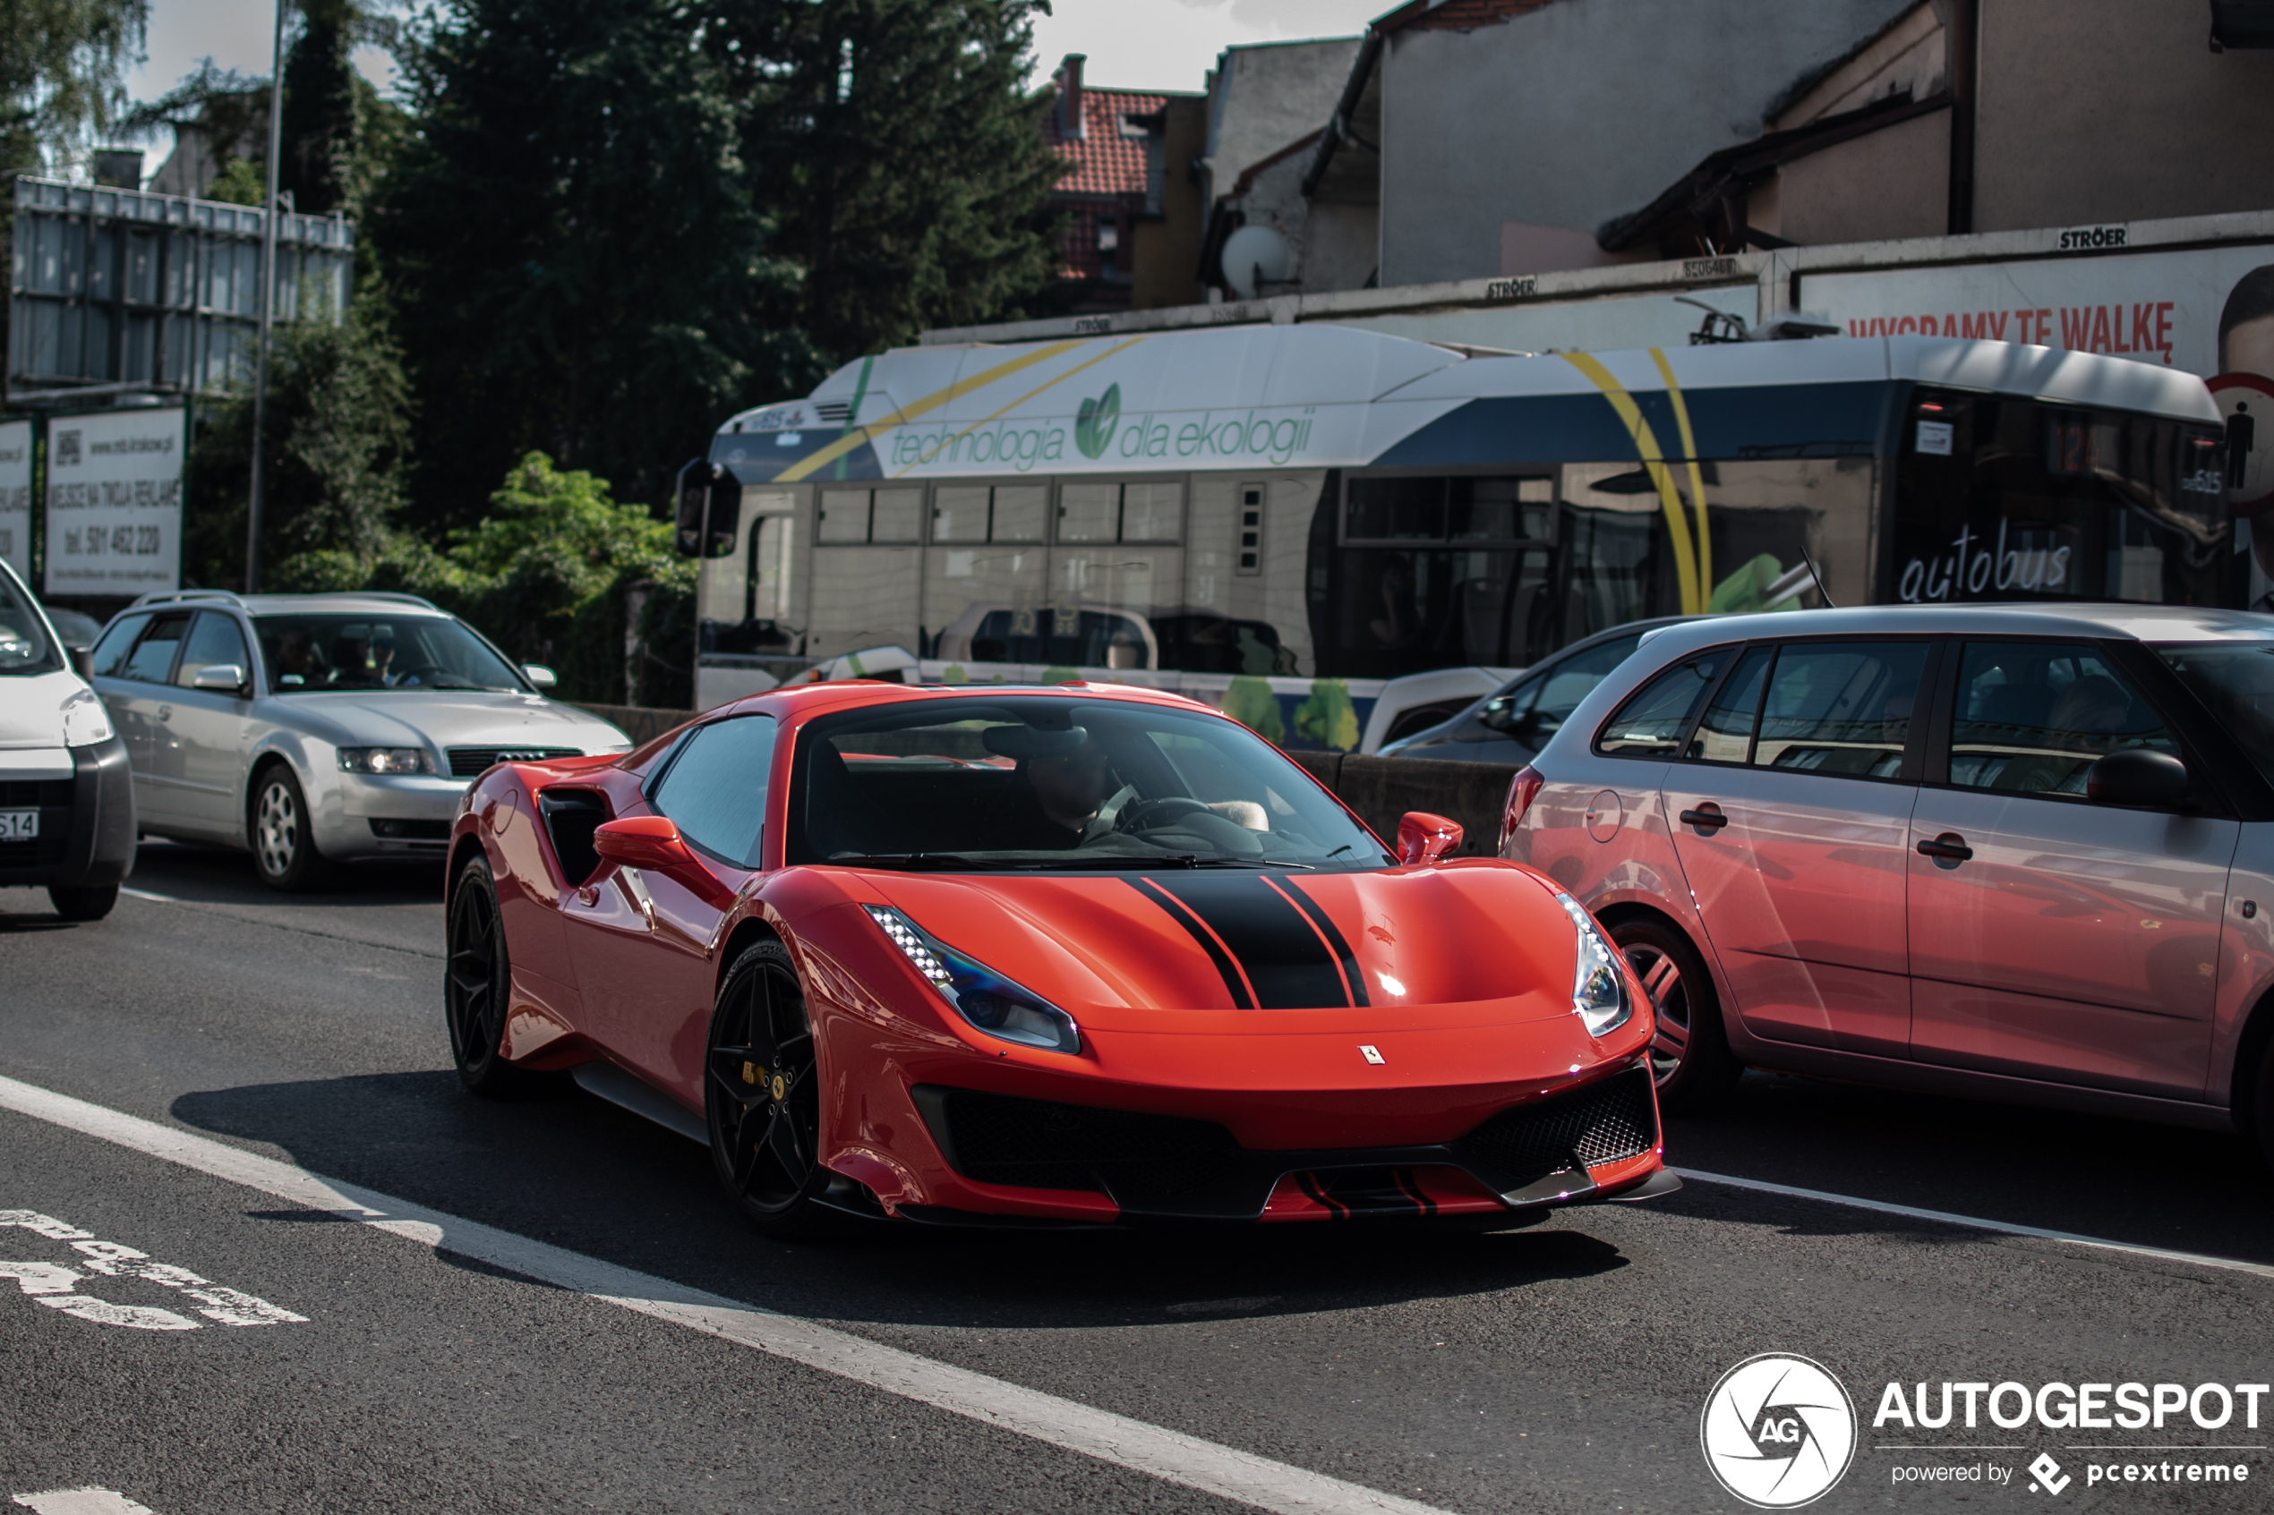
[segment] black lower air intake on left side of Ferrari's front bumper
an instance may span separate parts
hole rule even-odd
[[[978,1183],[1178,1192],[1214,1188],[1239,1158],[1233,1133],[1207,1120],[973,1090],[951,1090],[944,1108],[955,1167]]]

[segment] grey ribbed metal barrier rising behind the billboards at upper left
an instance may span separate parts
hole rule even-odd
[[[7,400],[252,377],[262,211],[20,175],[11,241]],[[275,318],[337,320],[352,257],[346,220],[280,216]]]

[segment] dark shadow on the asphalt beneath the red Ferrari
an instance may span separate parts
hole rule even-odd
[[[1123,1326],[1344,1311],[1612,1272],[1553,1229],[1280,1224],[957,1231],[875,1224],[782,1245],[728,1206],[709,1152],[548,1081],[475,1099],[450,1072],[182,1095],[175,1120],[277,1147],[327,1179],[796,1315],[878,1324]],[[273,1213],[273,1211],[259,1211]]]

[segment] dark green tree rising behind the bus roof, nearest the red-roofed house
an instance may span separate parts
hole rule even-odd
[[[707,0],[800,318],[832,361],[1019,313],[1060,175],[1021,84],[1048,0]]]

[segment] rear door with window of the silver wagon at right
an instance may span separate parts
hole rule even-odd
[[[1665,806],[1749,1031],[1908,1056],[1906,845],[1926,638],[1753,645]]]

